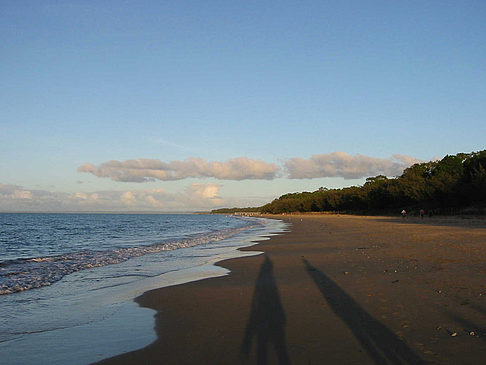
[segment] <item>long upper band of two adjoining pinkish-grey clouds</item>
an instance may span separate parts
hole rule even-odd
[[[360,154],[353,156],[345,152],[332,152],[314,155],[309,159],[291,158],[284,161],[283,168],[261,160],[238,157],[225,162],[207,162],[202,158],[189,158],[185,161],[172,162],[154,159],[112,160],[99,166],[88,163],[80,166],[78,171],[124,182],[170,181],[210,177],[218,180],[238,181],[273,180],[282,177],[282,175],[290,179],[322,177],[359,179],[376,175],[397,176],[405,168],[417,162],[421,162],[421,160],[403,155],[393,155],[385,159]]]

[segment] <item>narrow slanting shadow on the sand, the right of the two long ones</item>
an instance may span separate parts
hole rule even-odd
[[[314,280],[334,313],[353,332],[376,364],[425,364],[405,342],[383,323],[359,306],[326,274],[303,259],[307,272]]]

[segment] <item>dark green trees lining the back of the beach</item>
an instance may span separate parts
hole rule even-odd
[[[370,177],[363,186],[285,194],[256,209],[262,213],[378,213],[403,208],[434,213],[484,212],[486,150],[415,164],[395,178]]]

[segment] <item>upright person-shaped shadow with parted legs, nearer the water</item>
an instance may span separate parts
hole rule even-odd
[[[256,337],[257,364],[267,364],[268,346],[271,344],[281,365],[290,364],[285,342],[285,312],[280,302],[277,284],[273,276],[272,261],[265,257],[260,268],[241,346],[242,355],[248,359],[253,338]]]

